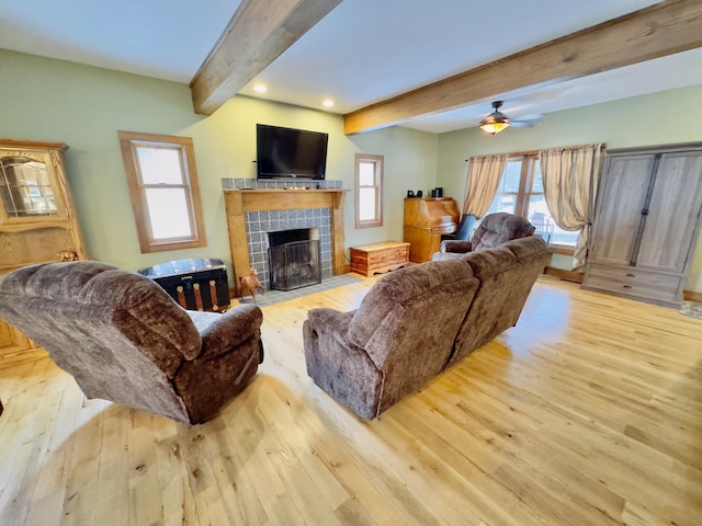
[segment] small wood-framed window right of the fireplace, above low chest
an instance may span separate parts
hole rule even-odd
[[[355,155],[355,228],[383,226],[383,156]]]

